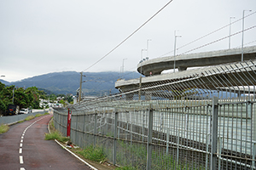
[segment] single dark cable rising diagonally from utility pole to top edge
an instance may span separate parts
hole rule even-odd
[[[126,42],[130,37],[132,37],[137,31],[139,31],[143,26],[145,26],[150,20],[152,20],[154,18],[154,16],[156,16],[157,14],[160,13],[160,11],[162,11],[164,8],[166,8],[170,3],[172,3],[172,0],[169,1],[168,3],[166,3],[165,6],[163,6],[162,8],[160,8],[160,10],[158,10],[153,16],[151,16],[146,22],[143,23],[142,26],[139,26],[137,28],[136,31],[133,31],[128,37],[126,37],[122,42],[120,42],[115,48],[113,48],[112,50],[110,50],[108,52],[108,54],[105,54],[101,59],[98,59],[96,61],[96,63],[94,63],[93,65],[90,65],[87,69],[84,69],[84,71],[89,70],[91,67],[93,67],[94,65],[96,65],[97,63],[99,63],[102,59],[106,58],[109,54],[111,54],[116,48],[119,48],[120,45],[122,45],[124,42]]]

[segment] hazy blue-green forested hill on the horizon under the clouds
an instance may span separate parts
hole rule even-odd
[[[119,72],[84,72],[83,75],[85,76],[82,84],[83,95],[101,96],[118,93],[118,90],[114,88],[114,82],[119,79]],[[127,71],[124,73],[126,80],[138,77],[140,77],[140,74],[137,72]],[[53,72],[17,82],[5,82],[3,80],[0,80],[0,82],[16,87],[29,88],[35,86],[54,94],[76,94],[76,90],[79,88],[80,73],[76,71]]]

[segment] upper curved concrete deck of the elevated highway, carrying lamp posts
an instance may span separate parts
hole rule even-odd
[[[243,60],[256,59],[256,46],[243,48]],[[189,67],[221,65],[241,61],[241,48],[231,48],[196,54],[183,54],[175,57],[178,71],[185,71]],[[173,69],[174,56],[148,59],[137,65],[137,71],[144,76],[160,75],[162,71]],[[141,72],[142,71],[142,72]]]

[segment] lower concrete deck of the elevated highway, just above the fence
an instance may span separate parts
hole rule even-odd
[[[243,90],[248,91],[248,86],[256,86],[256,59],[143,77],[142,80],[140,78],[131,80],[121,79],[115,82],[115,88],[119,88],[123,92],[128,92],[139,88],[141,83],[142,88],[152,87],[154,85],[173,84],[172,89],[167,90],[181,90],[183,86],[178,86],[178,83],[188,82],[187,88],[195,88],[195,83],[191,82],[196,79],[201,79],[201,82],[203,82],[202,84],[197,83],[197,88],[205,87],[212,90],[230,89],[232,91],[238,91],[239,87],[242,86]],[[224,81],[229,83],[225,83]],[[230,88],[231,85],[232,89]]]

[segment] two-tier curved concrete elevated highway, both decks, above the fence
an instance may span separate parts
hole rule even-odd
[[[228,90],[236,94],[241,94],[241,91],[243,94],[251,94],[255,91],[250,86],[256,86],[256,46],[244,48],[243,61],[241,48],[181,55],[176,60],[179,71],[160,74],[161,71],[173,69],[173,62],[173,57],[146,60],[137,65],[137,71],[142,69],[146,77],[121,79],[115,82],[115,88],[124,93],[134,92],[131,95],[140,95],[143,93],[141,89],[150,90],[150,95],[154,95],[154,87],[170,92],[189,88]],[[188,67],[197,66],[202,67],[187,70]],[[149,76],[150,72],[152,76]]]

